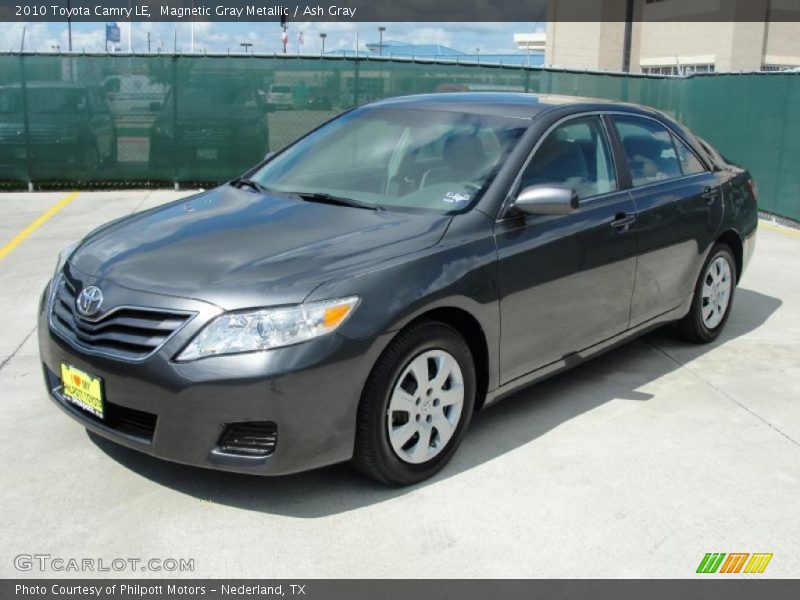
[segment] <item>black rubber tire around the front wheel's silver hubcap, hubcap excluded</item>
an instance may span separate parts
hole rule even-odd
[[[452,437],[437,455],[420,464],[402,460],[389,441],[387,412],[399,377],[420,354],[444,350],[456,359],[464,382],[464,399]],[[452,458],[469,426],[475,406],[475,363],[464,338],[452,327],[424,321],[400,332],[370,373],[358,408],[353,465],[388,485],[411,485],[436,474]]]

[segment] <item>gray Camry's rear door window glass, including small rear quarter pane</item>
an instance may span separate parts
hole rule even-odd
[[[615,117],[614,123],[634,187],[706,170],[686,144],[660,123],[638,117]]]

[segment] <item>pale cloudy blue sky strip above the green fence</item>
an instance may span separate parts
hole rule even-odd
[[[384,41],[392,40],[412,44],[442,44],[468,54],[520,53],[514,44],[514,34],[540,31],[537,23],[381,23],[386,27]],[[134,52],[147,51],[147,33],[153,52],[161,48],[172,52],[177,32],[178,51],[189,52],[189,23],[119,23],[120,50],[128,50],[128,28],[131,29],[131,46]],[[17,51],[25,33],[25,50],[50,52],[54,46],[67,49],[66,23],[0,23],[0,51]],[[298,32],[303,32],[304,44],[298,44]],[[353,50],[356,36],[359,49],[365,43],[378,41],[378,23],[289,23],[287,51],[292,54],[318,54],[321,50],[319,34],[327,33],[325,50]],[[195,51],[242,52],[240,43],[253,44],[251,52],[281,52],[280,25],[275,23],[209,23],[194,24]],[[75,51],[105,51],[104,23],[73,23],[72,48]]]

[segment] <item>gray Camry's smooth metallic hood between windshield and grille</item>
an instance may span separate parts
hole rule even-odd
[[[231,310],[301,302],[345,271],[436,244],[452,217],[372,211],[225,185],[89,234],[70,265],[92,281]]]

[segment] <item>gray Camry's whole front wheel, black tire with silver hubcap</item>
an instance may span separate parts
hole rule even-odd
[[[392,485],[431,477],[450,460],[475,405],[475,365],[464,338],[425,322],[402,331],[378,359],[358,410],[353,457]]]

